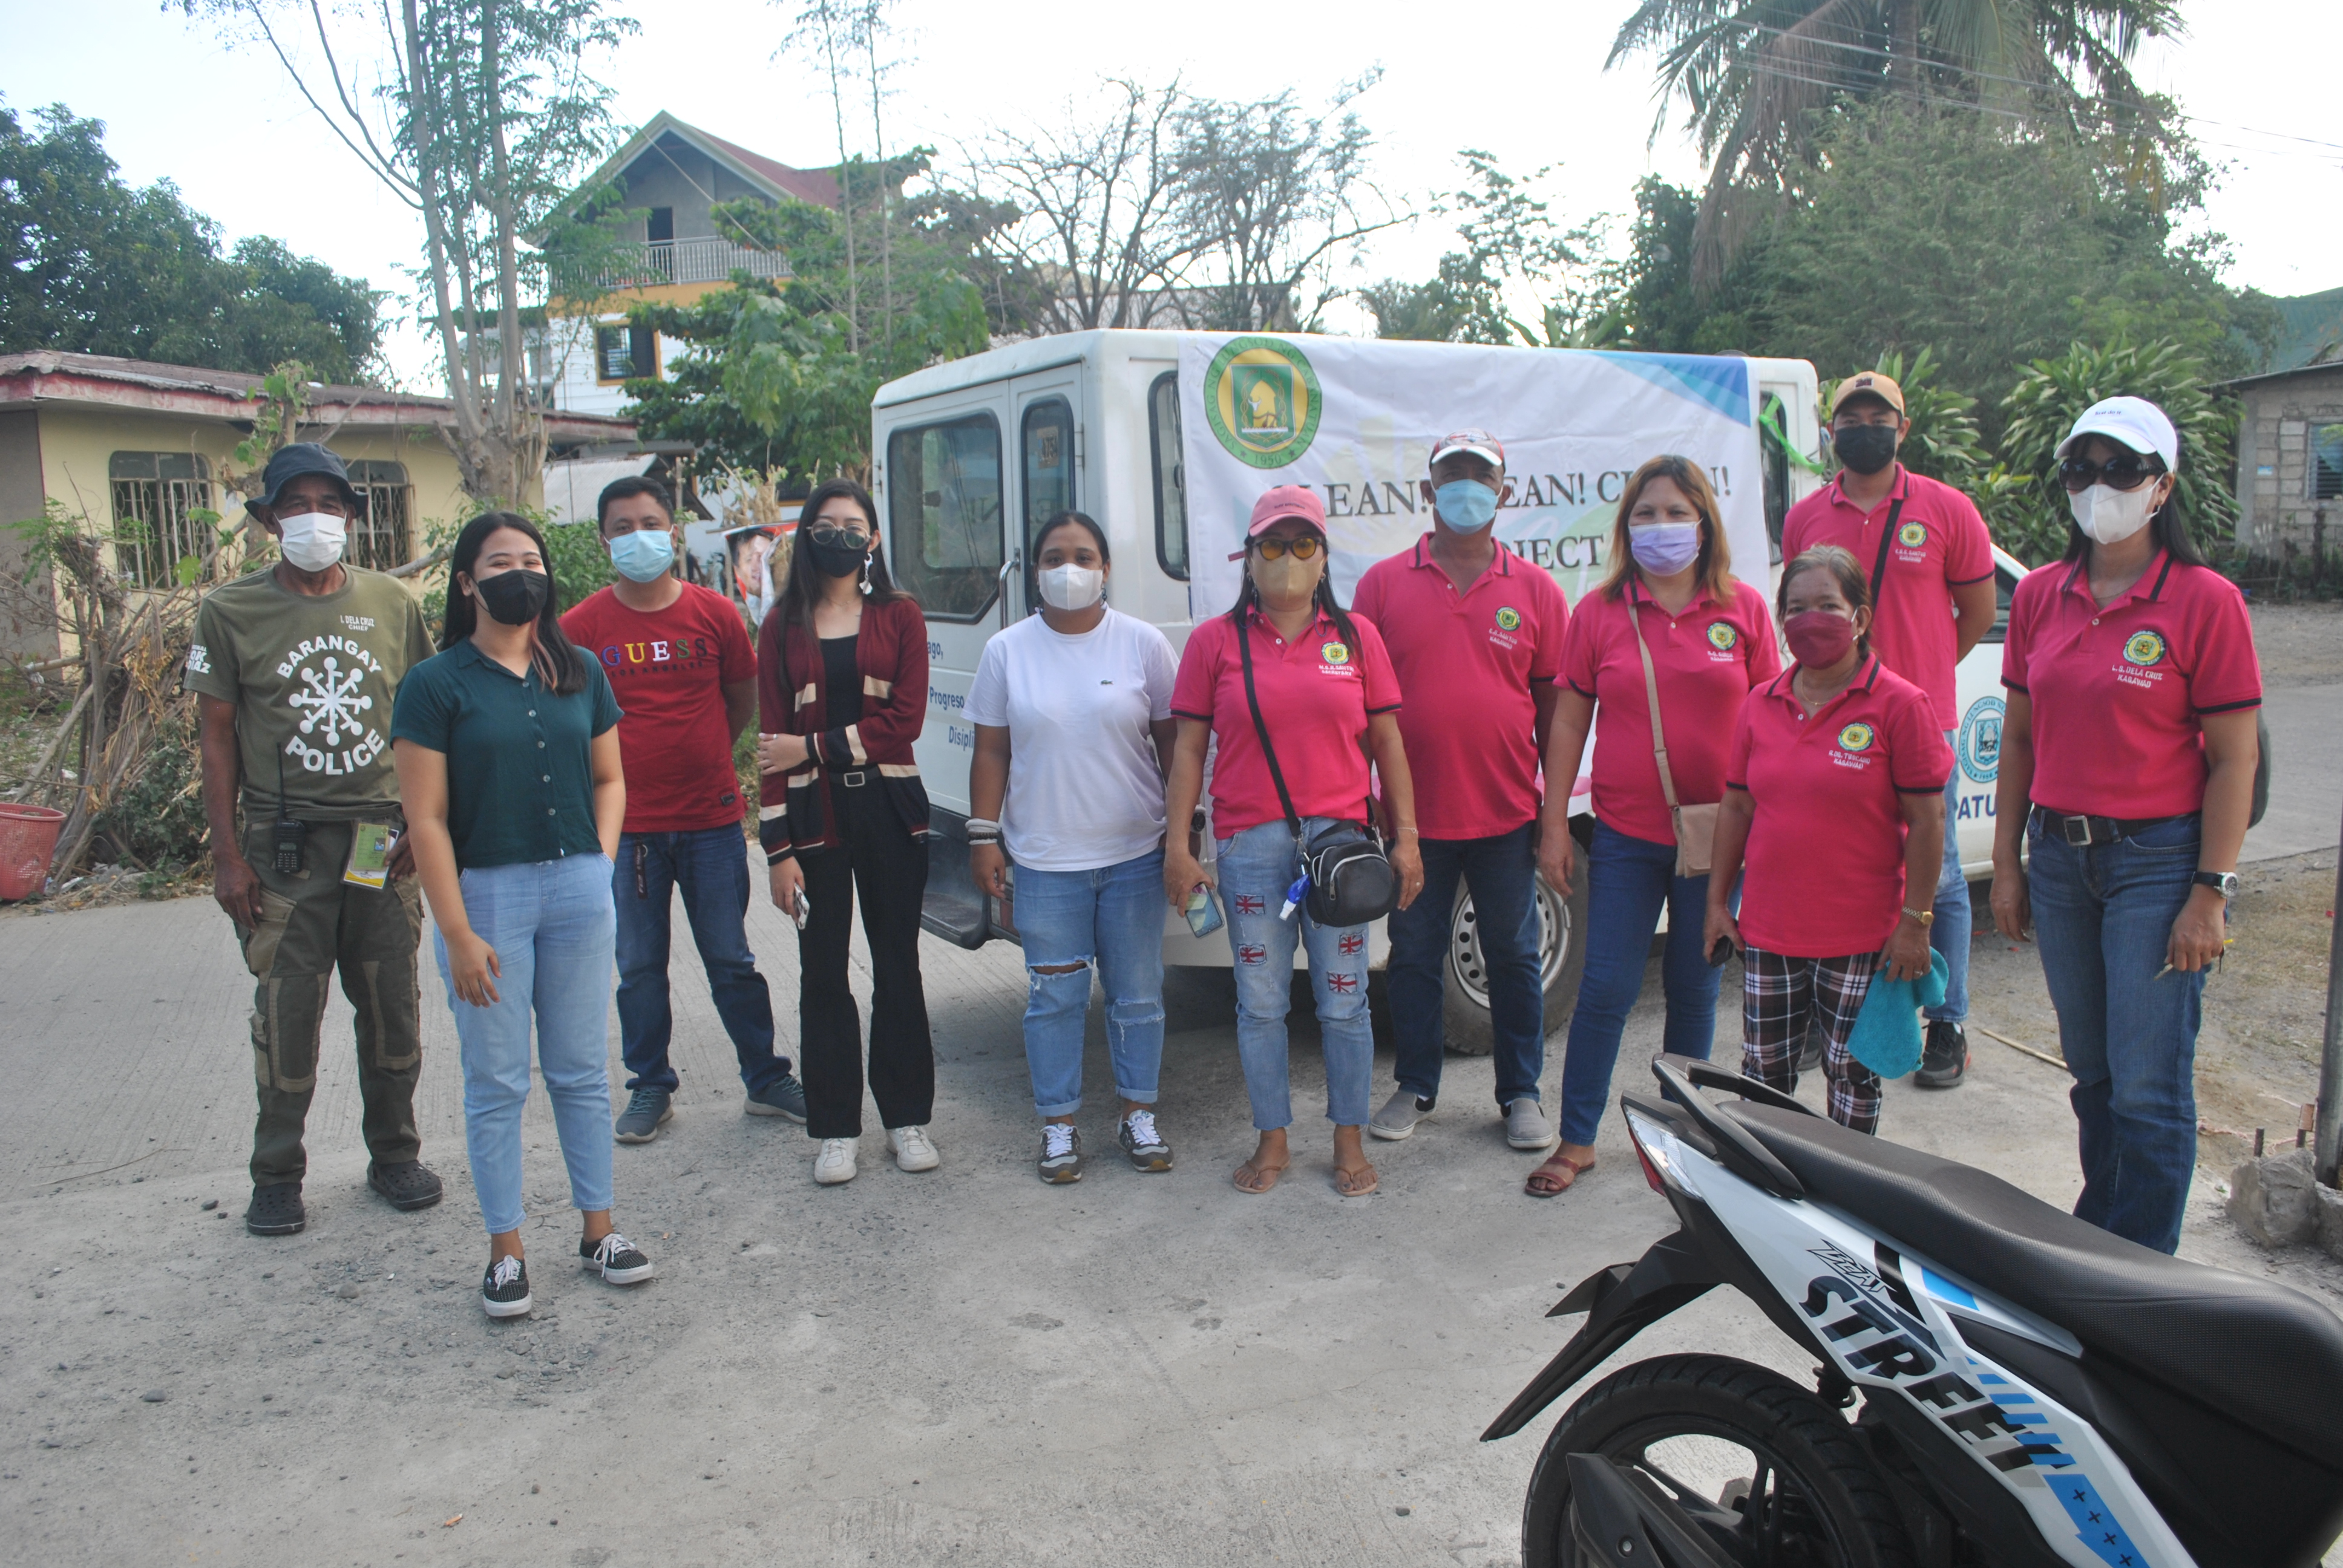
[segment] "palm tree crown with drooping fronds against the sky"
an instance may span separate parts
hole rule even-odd
[[[2181,30],[2179,0],[1638,0],[1605,68],[1659,56],[1659,120],[1682,101],[1710,159],[1692,279],[1713,288],[1757,218],[1797,192],[1825,117],[1893,98],[2013,127],[2142,122],[2142,38]]]

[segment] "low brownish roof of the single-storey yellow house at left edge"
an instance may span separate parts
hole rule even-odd
[[[244,422],[253,417],[251,394],[260,389],[260,382],[262,377],[244,370],[164,366],[150,359],[117,359],[112,354],[61,354],[54,349],[0,354],[0,410],[80,403],[192,420]],[[307,424],[358,429],[440,427],[455,424],[455,403],[412,391],[384,391],[382,387],[326,387],[312,382]],[[633,420],[546,410],[546,441],[553,448],[633,438]]]

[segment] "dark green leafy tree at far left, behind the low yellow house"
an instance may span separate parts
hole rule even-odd
[[[105,127],[66,105],[0,108],[0,352],[119,354],[262,373],[377,366],[380,293],[281,241],[220,251],[220,225],[159,180],[127,185]]]

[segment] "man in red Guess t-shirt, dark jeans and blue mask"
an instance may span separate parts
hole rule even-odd
[[[672,574],[682,530],[656,478],[602,490],[602,541],[619,581],[562,616],[562,630],[602,661],[626,764],[626,825],[612,895],[619,902],[619,1041],[633,1099],[614,1130],[649,1144],[675,1116],[668,1041],[668,916],[684,893],[691,940],[717,1017],[740,1057],[750,1116],[806,1120],[806,1090],[773,1055],[773,996],[747,949],[747,841],[733,741],[757,717],[757,649],[740,609]]]

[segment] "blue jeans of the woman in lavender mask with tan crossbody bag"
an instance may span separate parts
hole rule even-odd
[[[1596,1141],[1603,1106],[1610,1104],[1619,1034],[1642,996],[1642,966],[1652,956],[1661,905],[1668,907],[1668,947],[1659,966],[1668,994],[1668,1024],[1661,1034],[1668,1055],[1708,1057],[1717,1038],[1722,970],[1710,968],[1701,952],[1708,877],[1678,877],[1675,844],[1633,839],[1596,823],[1582,877],[1586,970],[1579,975],[1579,1005],[1570,1015],[1570,1045],[1563,1050],[1563,1141],[1584,1148]]]

